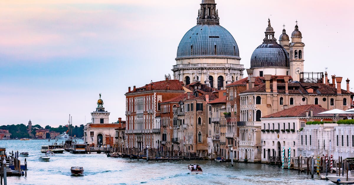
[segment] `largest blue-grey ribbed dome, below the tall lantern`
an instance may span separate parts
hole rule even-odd
[[[232,35],[218,24],[198,24],[182,38],[177,58],[235,58],[239,48]]]

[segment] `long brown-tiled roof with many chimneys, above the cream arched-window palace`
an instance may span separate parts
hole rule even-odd
[[[319,94],[319,95],[337,95],[337,89],[321,83],[288,83],[289,94]],[[278,93],[285,94],[285,83],[277,83]],[[313,93],[309,93],[306,88],[314,89]],[[273,92],[273,84],[270,83],[270,91]],[[258,85],[244,92],[265,92],[265,84]],[[342,89],[342,94],[352,94]]]

